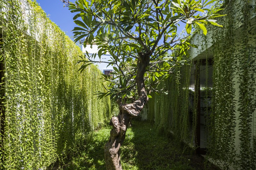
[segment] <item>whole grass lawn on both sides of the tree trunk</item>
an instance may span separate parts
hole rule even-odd
[[[108,141],[110,129],[111,127],[103,128],[88,135],[83,146],[79,147],[79,152],[71,155],[62,168],[105,169],[103,147]],[[133,126],[128,128],[121,147],[122,167],[124,170],[205,169],[204,159],[193,155],[191,151],[170,138],[158,135],[158,130],[148,122],[134,122]],[[216,168],[208,165],[207,167]]]

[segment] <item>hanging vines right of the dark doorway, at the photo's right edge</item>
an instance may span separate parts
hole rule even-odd
[[[209,156],[228,168],[256,168],[255,1],[225,1],[213,29],[213,103]]]

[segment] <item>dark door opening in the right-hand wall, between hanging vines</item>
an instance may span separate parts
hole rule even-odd
[[[196,108],[196,154],[207,153],[206,122],[212,112],[212,74],[213,59],[202,59],[194,62],[194,107]],[[193,84],[193,83],[192,83]]]

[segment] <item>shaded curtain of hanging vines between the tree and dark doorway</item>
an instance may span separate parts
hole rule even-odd
[[[190,65],[179,67],[165,82],[161,83],[168,93],[154,95],[148,102],[148,118],[155,121],[159,130],[173,134],[180,140],[192,142],[189,132],[189,77]],[[191,117],[190,117],[191,119]]]

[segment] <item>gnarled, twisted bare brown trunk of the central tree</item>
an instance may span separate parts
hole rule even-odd
[[[131,117],[136,117],[141,112],[145,104],[148,102],[148,97],[145,89],[144,73],[149,63],[149,55],[140,54],[137,62],[136,84],[139,94],[139,99],[130,104],[119,103],[119,114],[117,117],[112,117],[110,125],[113,129],[110,131],[110,138],[105,144],[105,161],[107,170],[122,170],[120,159],[120,147],[122,146],[128,123]]]

